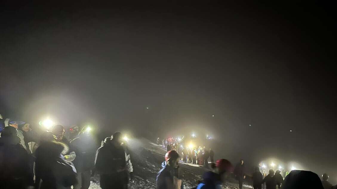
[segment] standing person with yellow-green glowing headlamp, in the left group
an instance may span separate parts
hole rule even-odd
[[[77,171],[78,184],[74,189],[88,189],[90,186],[90,171],[94,168],[96,155],[96,140],[94,138],[94,128],[84,126],[79,133],[79,137],[70,141],[76,158],[72,161]]]

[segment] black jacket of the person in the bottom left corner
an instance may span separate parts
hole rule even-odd
[[[19,137],[0,138],[1,188],[24,188],[29,178],[28,153]]]

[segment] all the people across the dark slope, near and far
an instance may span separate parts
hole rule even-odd
[[[97,172],[101,188],[126,189],[133,178],[127,141],[119,132],[101,140],[96,128],[88,125],[68,129],[53,125],[45,129],[10,119],[0,123],[1,188],[88,189],[91,176]],[[242,189],[247,177],[243,159],[234,167],[226,159],[214,162],[212,149],[187,147],[184,139],[161,142],[167,153],[156,178],[158,189],[183,188],[178,171],[180,160],[209,169],[196,189],[219,188],[225,173],[234,173]],[[280,170],[266,170],[262,163],[255,167],[251,178],[254,189],[337,189],[329,183],[327,174],[322,175],[322,180],[315,173],[299,170],[283,176]]]

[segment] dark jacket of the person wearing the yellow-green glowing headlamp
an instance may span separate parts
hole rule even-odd
[[[95,166],[96,140],[86,133],[70,141],[70,145],[75,151],[76,158],[72,161],[78,173],[88,171]]]

